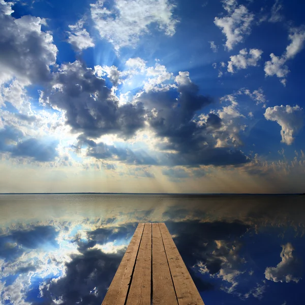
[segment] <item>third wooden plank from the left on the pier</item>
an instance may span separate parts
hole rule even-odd
[[[153,305],[177,305],[158,223],[153,223]]]

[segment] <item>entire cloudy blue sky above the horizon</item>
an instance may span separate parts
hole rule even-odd
[[[0,0],[0,192],[303,193],[304,9]]]

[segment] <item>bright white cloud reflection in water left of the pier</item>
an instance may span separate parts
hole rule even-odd
[[[99,223],[99,224],[98,224]],[[24,233],[31,232],[35,226],[38,228],[40,225],[52,225],[56,231],[54,240],[43,238],[44,235],[33,235],[32,238],[37,238],[40,242],[35,244],[35,248],[27,248],[21,243],[14,242],[9,247],[18,247],[22,254],[14,259],[0,258],[0,303],[12,305],[31,305],[31,301],[26,301],[30,291],[33,289],[33,284],[38,285],[40,289],[40,297],[44,296],[43,288],[48,288],[46,285],[55,283],[59,279],[67,276],[67,265],[75,256],[81,256],[79,246],[81,242],[88,242],[88,231],[93,231],[101,228],[99,220],[83,220],[71,222],[38,222],[34,224],[18,223],[12,224],[10,228],[6,228],[4,235],[10,234],[11,230],[14,232],[19,231]],[[55,235],[55,234],[54,234]],[[39,239],[41,238],[41,239]],[[20,241],[20,240],[19,240]],[[21,240],[22,241],[22,240]],[[36,240],[35,240],[36,241]],[[51,243],[53,242],[53,247]],[[104,252],[105,254],[115,254],[118,251],[124,250],[127,247],[128,239],[123,238],[118,241],[110,241],[104,243],[97,243],[94,247],[88,248],[90,250],[96,249]],[[16,278],[14,277],[16,275]],[[13,277],[8,283],[5,283],[7,277]],[[52,280],[51,280],[52,279]],[[51,282],[49,282],[51,280]],[[36,282],[37,281],[37,282]],[[47,282],[49,282],[47,284]],[[36,286],[37,287],[37,286]],[[38,296],[37,296],[38,297]],[[53,295],[53,302],[60,304],[60,296]],[[57,301],[56,301],[57,299]],[[52,303],[53,303],[52,302]]]

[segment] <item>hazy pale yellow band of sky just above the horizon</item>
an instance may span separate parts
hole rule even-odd
[[[89,167],[39,167],[1,164],[0,193],[302,193],[301,174],[267,172],[251,175],[243,167],[206,167],[201,177],[168,177],[149,167],[150,176]],[[132,171],[132,172],[131,172]],[[190,169],[191,172],[191,169]]]

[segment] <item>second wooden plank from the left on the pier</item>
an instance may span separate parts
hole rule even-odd
[[[151,223],[145,223],[126,305],[150,305]]]

